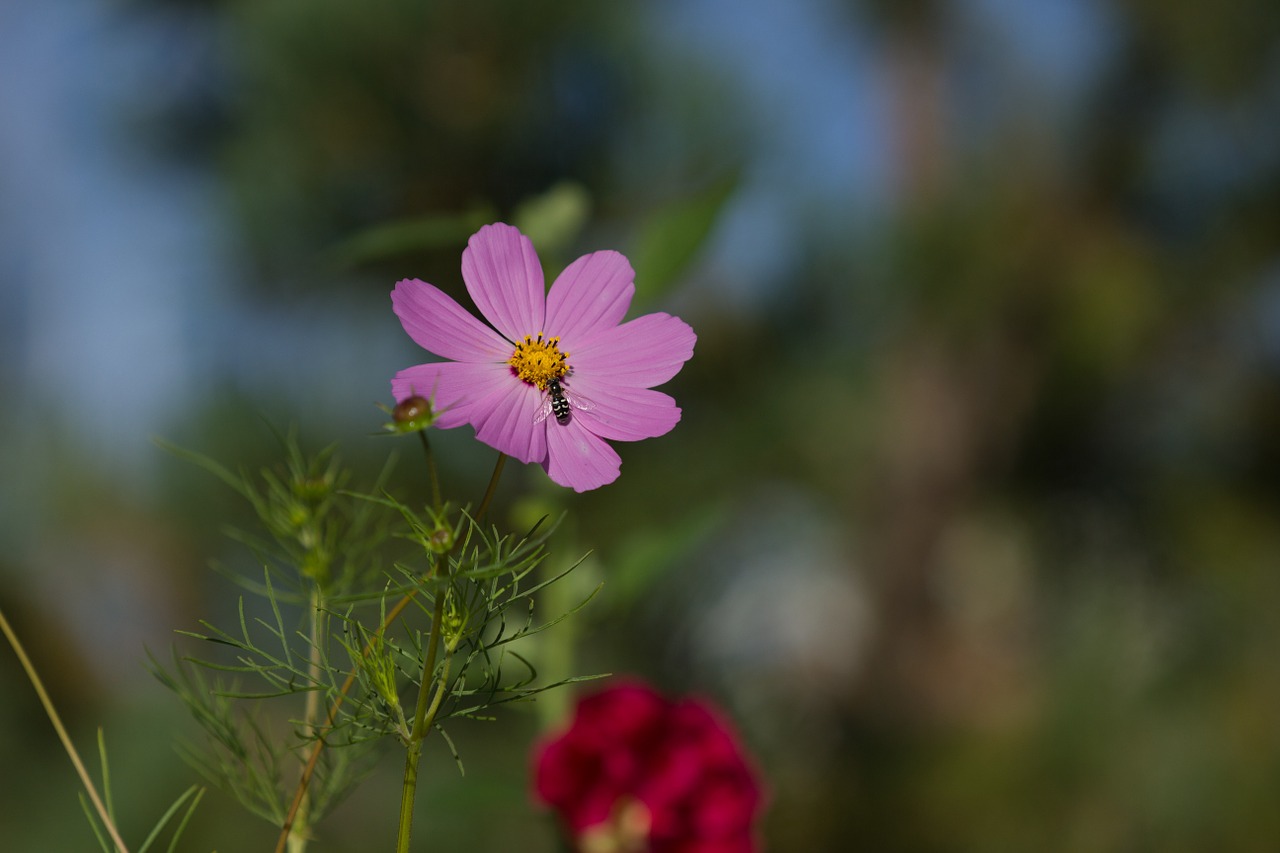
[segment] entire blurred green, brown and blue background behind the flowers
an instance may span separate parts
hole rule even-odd
[[[1274,0],[10,1],[0,606],[133,838],[196,781],[146,649],[228,612],[244,514],[151,438],[375,471],[390,287],[495,219],[699,333],[616,484],[497,511],[571,512],[573,667],[730,710],[769,849],[1280,845]],[[93,849],[0,685],[0,847]],[[556,849],[567,698],[433,744],[421,849]],[[398,767],[314,849],[390,849]],[[183,849],[274,836],[211,793]]]

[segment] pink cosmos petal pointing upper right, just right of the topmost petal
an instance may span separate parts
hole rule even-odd
[[[547,295],[547,332],[571,353],[579,341],[612,329],[635,296],[635,270],[613,251],[584,255],[564,268]]]

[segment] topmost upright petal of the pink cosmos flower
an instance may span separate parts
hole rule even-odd
[[[476,307],[509,341],[543,332],[547,291],[534,243],[497,223],[471,234],[462,251],[462,280]]]

